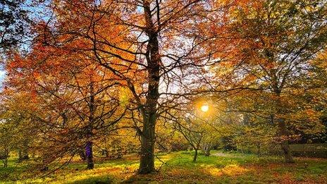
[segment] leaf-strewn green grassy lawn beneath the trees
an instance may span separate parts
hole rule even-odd
[[[166,164],[161,166],[159,159]],[[159,159],[159,172],[145,176],[135,172],[137,155],[128,155],[96,160],[93,170],[74,162],[45,178],[26,178],[25,164],[11,159],[8,168],[0,168],[0,183],[327,183],[327,159],[297,158],[295,164],[283,164],[280,157],[217,151],[210,157],[200,154],[195,163],[192,152],[160,154]]]

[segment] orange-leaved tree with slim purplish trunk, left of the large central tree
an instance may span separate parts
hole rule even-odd
[[[114,95],[121,88],[106,71],[92,65],[92,59],[43,43],[38,37],[29,54],[13,53],[7,62],[7,87],[30,94],[26,101],[35,104],[30,116],[42,127],[43,141],[37,146],[43,165],[85,148],[87,168],[93,168],[92,141],[114,130],[125,114],[125,106]]]

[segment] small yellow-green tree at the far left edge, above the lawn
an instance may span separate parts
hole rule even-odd
[[[5,167],[10,152],[18,150],[18,161],[29,159],[29,152],[32,152],[30,148],[37,142],[39,127],[32,123],[30,110],[33,105],[26,103],[27,99],[28,94],[11,90],[1,92],[1,156]]]

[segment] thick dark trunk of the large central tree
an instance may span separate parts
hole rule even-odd
[[[156,128],[156,105],[159,99],[160,63],[158,30],[152,22],[152,11],[149,1],[143,1],[146,33],[149,37],[147,44],[147,100],[142,110],[143,128],[141,133],[141,156],[139,173],[146,174],[155,171],[154,143]]]

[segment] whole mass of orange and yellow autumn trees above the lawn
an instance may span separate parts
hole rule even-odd
[[[4,54],[1,127],[42,171],[137,152],[152,173],[187,144],[292,162],[290,142],[326,132],[326,1],[35,3],[28,49]]]

